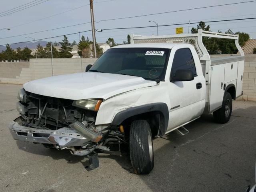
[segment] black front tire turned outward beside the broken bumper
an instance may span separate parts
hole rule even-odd
[[[153,142],[146,120],[133,121],[130,127],[130,158],[135,174],[149,174],[154,168]]]

